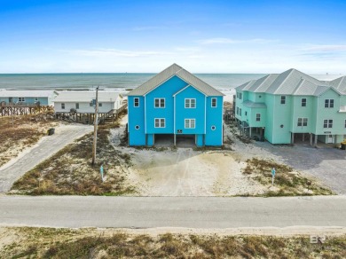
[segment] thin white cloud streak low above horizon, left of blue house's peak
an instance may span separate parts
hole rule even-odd
[[[168,51],[124,51],[117,49],[96,49],[96,50],[72,50],[65,51],[69,54],[88,56],[88,57],[145,57],[145,56],[162,56],[171,54]]]

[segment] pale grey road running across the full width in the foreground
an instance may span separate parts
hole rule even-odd
[[[0,225],[115,228],[346,227],[346,196],[0,196]]]

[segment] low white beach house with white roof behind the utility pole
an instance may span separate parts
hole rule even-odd
[[[56,114],[94,114],[92,100],[96,98],[96,91],[59,91],[54,99]],[[122,106],[122,95],[114,91],[98,90],[98,113],[106,114]]]

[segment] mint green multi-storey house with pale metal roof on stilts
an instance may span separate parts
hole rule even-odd
[[[346,137],[346,76],[322,82],[295,69],[236,88],[240,132],[271,144],[340,143]]]

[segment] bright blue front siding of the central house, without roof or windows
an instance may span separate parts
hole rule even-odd
[[[223,97],[206,97],[188,85],[175,75],[145,96],[129,96],[129,145],[153,145],[154,134],[195,135],[197,146],[223,145]],[[134,107],[134,98],[139,98],[139,107]],[[164,98],[165,106],[155,108],[155,98]],[[195,108],[185,108],[185,98],[196,99]],[[155,128],[155,118],[165,119],[165,127]],[[185,119],[195,120],[194,129],[185,128]]]

